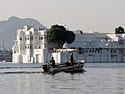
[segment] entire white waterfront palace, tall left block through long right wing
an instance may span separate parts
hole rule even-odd
[[[48,43],[47,32],[30,26],[17,30],[13,63],[46,63],[51,57],[64,63],[69,61],[72,51],[75,60],[88,63],[125,62],[125,34],[74,31],[75,41],[57,49],[55,44]]]

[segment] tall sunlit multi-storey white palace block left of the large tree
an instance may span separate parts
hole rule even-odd
[[[43,49],[43,50],[41,50]],[[46,30],[24,26],[17,30],[17,40],[12,48],[13,63],[41,63],[47,50]]]

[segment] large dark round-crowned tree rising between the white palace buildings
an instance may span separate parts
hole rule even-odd
[[[75,34],[72,31],[66,30],[62,25],[53,25],[48,31],[48,41],[57,43],[59,47],[67,42],[72,43],[75,40]]]

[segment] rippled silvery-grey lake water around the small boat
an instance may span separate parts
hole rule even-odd
[[[0,94],[125,94],[125,63],[86,63],[84,73],[55,75],[0,66]]]

